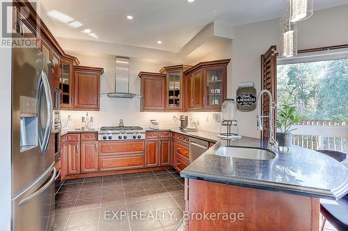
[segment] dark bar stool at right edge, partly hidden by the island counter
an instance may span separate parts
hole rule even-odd
[[[347,153],[330,150],[317,150],[319,153],[324,153],[333,157],[338,162],[347,162]],[[347,167],[347,165],[346,165]],[[320,212],[324,216],[322,221],[322,230],[324,230],[326,220],[333,225],[338,231],[348,230],[348,194],[340,200],[320,200]]]

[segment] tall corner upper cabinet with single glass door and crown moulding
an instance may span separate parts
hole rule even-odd
[[[166,74],[165,110],[182,111],[184,109],[184,71],[191,66],[175,65],[162,68]]]

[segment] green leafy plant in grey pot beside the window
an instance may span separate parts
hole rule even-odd
[[[276,140],[279,146],[290,147],[292,141],[292,126],[299,122],[301,117],[296,114],[296,107],[284,104],[278,110],[278,118],[276,120],[276,127],[280,132],[276,132]]]

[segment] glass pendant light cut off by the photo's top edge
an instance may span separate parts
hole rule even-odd
[[[286,0],[287,18],[296,23],[313,15],[313,0]]]

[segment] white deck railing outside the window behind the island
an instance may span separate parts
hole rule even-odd
[[[302,120],[292,131],[292,144],[348,153],[348,121]]]

